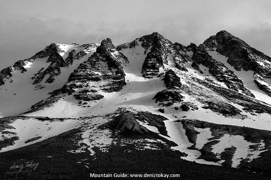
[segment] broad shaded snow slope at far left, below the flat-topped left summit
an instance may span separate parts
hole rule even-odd
[[[72,49],[77,46],[72,45]],[[70,52],[72,49],[66,49]],[[78,48],[77,51],[83,49]],[[16,116],[30,110],[30,107],[49,97],[48,92],[58,89],[67,82],[70,73],[78,67],[80,63],[85,61],[93,52],[95,48],[89,49],[88,54],[79,60],[74,60],[69,67],[61,68],[61,74],[55,78],[52,83],[45,83],[48,76],[46,76],[39,85],[33,85],[34,79],[31,79],[42,67],[46,69],[50,63],[46,63],[47,58],[36,59],[33,63],[26,63],[24,66],[26,72],[21,73],[20,70],[11,72],[12,81],[6,81],[4,85],[0,86],[0,117],[2,116]],[[44,87],[39,89],[39,87]],[[10,108],[12,107],[12,108]]]

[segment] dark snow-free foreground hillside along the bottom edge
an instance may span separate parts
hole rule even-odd
[[[132,152],[124,152],[122,146],[116,145],[112,146],[107,153],[95,150],[95,159],[88,155],[89,152],[77,154],[67,152],[70,149],[78,148],[74,145],[74,141],[81,139],[77,133],[79,130],[73,129],[42,142],[1,153],[1,179],[91,179],[90,173],[180,174],[178,179],[190,180],[270,179],[270,174],[186,161],[180,158],[180,152],[168,149],[142,151],[136,150],[136,146],[130,145],[129,149]],[[86,160],[81,161],[82,159]],[[39,162],[39,165],[29,176],[26,174],[19,174],[17,177],[15,175],[5,176],[14,162],[20,164],[25,161]],[[81,163],[76,163],[79,161]]]

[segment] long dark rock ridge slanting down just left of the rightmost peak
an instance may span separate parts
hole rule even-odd
[[[197,47],[195,44],[191,44],[190,47],[194,52],[192,56],[193,62],[208,67],[209,73],[218,81],[224,82],[230,89],[234,91],[241,90],[246,95],[254,97],[254,95],[244,87],[242,80],[239,79],[232,70],[229,70],[223,63],[216,61],[208,54],[204,45],[201,44]],[[195,64],[194,67],[199,68]]]

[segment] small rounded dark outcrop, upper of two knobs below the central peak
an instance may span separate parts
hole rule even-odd
[[[166,72],[164,82],[168,89],[182,86],[179,76],[177,76],[176,73],[171,69]]]

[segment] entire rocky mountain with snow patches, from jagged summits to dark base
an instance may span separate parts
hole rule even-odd
[[[0,71],[1,177],[27,160],[25,179],[269,179],[270,64],[224,30],[199,46],[51,44]]]

